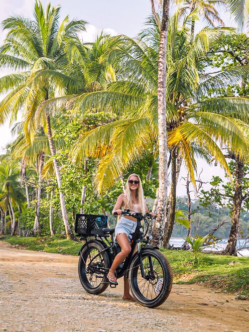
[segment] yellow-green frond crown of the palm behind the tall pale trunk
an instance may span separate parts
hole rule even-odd
[[[219,34],[219,29],[205,28],[197,34],[190,45],[186,28],[183,27],[182,31],[179,31],[176,22],[177,15],[172,19],[170,27],[167,58],[169,142],[171,148],[178,146],[178,153],[182,153],[194,182],[196,166],[194,156],[199,156],[203,150],[206,153],[207,148],[229,173],[225,158],[215,142],[216,139],[227,142],[230,146],[233,144],[241,154],[247,150],[238,123],[241,121],[243,124],[243,121],[247,121],[248,99],[204,99],[208,87],[224,85],[224,78],[227,82],[235,80],[241,72],[235,70],[220,73],[216,77],[204,76],[204,81],[201,83],[198,75],[198,59],[207,52],[207,45],[212,44]],[[147,35],[147,39],[151,41],[149,46],[143,41],[136,42],[126,36],[115,37],[113,39],[115,46],[110,56],[112,58],[116,56],[121,64],[125,63],[124,72],[119,72],[120,81],[110,84],[105,91],[82,94],[74,106],[75,109],[82,111],[96,107],[112,109],[120,114],[124,112],[115,123],[98,127],[82,135],[73,148],[75,158],[95,156],[101,159],[95,178],[99,192],[110,188],[115,179],[129,165],[142,158],[146,151],[151,151],[155,147],[155,155],[157,153],[158,41],[156,37],[158,31],[152,29],[150,32],[155,38]],[[145,36],[144,32],[143,37]],[[122,77],[125,80],[122,81]],[[185,107],[186,103],[188,108]],[[230,138],[228,139],[225,128],[231,131],[233,143]]]

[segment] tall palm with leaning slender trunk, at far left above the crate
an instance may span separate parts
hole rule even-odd
[[[35,120],[44,126],[53,156],[66,234],[68,238],[73,238],[61,191],[61,174],[56,159],[50,112],[37,112],[38,106],[45,100],[63,95],[65,89],[70,94],[78,88],[75,80],[63,73],[67,64],[64,47],[66,42],[76,38],[78,31],[85,29],[85,21],[69,21],[66,16],[59,25],[59,12],[59,6],[51,8],[49,3],[45,13],[41,2],[36,1],[33,20],[12,16],[3,21],[3,28],[8,32],[0,48],[0,64],[2,67],[24,71],[0,79],[0,91],[11,91],[0,103],[0,123],[9,114],[11,120],[15,119],[17,111],[23,107],[24,132],[29,142],[35,136]]]

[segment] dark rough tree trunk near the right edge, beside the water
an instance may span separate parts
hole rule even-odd
[[[223,251],[224,255],[237,256],[237,239],[240,230],[240,216],[241,207],[243,202],[242,195],[242,180],[245,176],[243,170],[244,163],[240,160],[239,156],[236,156],[236,168],[235,168],[235,194],[234,194],[234,205],[232,212],[232,226],[229,234],[228,244],[226,249]]]

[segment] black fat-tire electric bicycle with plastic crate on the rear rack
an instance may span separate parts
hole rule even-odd
[[[141,305],[158,307],[169,296],[173,277],[167,258],[158,247],[149,245],[152,237],[144,238],[141,221],[144,220],[148,228],[148,220],[152,216],[131,214],[128,209],[122,214],[136,218],[137,226],[130,242],[131,251],[116,270],[117,278],[124,275],[128,277],[131,293]],[[105,225],[104,216],[76,217],[75,231],[86,241],[79,252],[79,278],[83,288],[90,294],[101,294],[107,289],[107,274],[115,256],[121,251],[118,243],[113,240],[115,228],[106,228]],[[90,236],[95,238],[90,239]],[[134,253],[135,247],[137,251]]]

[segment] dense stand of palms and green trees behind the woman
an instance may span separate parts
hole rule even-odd
[[[138,36],[102,33],[93,43],[80,37],[86,21],[61,20],[59,6],[44,10],[36,1],[32,18],[3,21],[0,124],[10,121],[14,141],[0,156],[0,233],[10,243],[76,254],[76,214],[104,214],[113,225],[110,212],[135,172],[157,212],[154,244],[165,250],[172,234],[210,234],[210,241],[220,234],[229,239],[223,253],[237,255],[249,221],[246,3],[220,1],[235,15],[234,29],[209,3],[216,1],[177,1],[170,17],[169,1],[162,2],[157,12],[152,1]],[[197,31],[202,15],[207,25]],[[198,158],[219,164],[227,182],[210,176],[212,189],[198,189]],[[189,189],[186,199],[176,197],[183,167],[195,198]],[[70,243],[74,251],[63,251]],[[191,262],[190,253],[177,255]],[[200,257],[207,265],[213,256]]]

